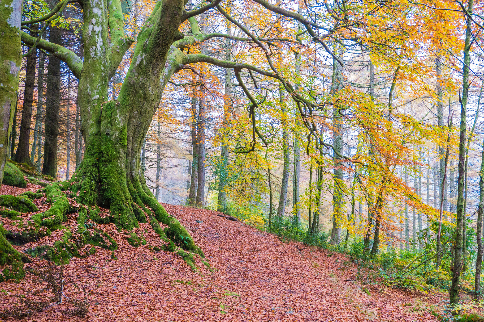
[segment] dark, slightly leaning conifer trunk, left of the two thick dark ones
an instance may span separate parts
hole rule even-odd
[[[35,24],[31,28],[30,36],[37,37],[36,30],[39,25]],[[30,162],[30,127],[32,122],[33,89],[35,86],[35,65],[37,62],[37,49],[32,50],[27,56],[27,69],[25,70],[25,90],[24,103],[22,106],[22,118],[20,120],[20,133],[18,135],[17,152],[13,158],[18,163],[26,163],[33,166]]]

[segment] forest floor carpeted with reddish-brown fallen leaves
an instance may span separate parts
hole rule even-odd
[[[35,191],[1,186],[0,194]],[[36,199],[40,210],[48,205]],[[302,243],[283,243],[275,236],[241,222],[217,216],[218,212],[165,205],[202,248],[211,267],[197,260],[194,272],[180,256],[155,252],[162,241],[149,224],[140,224],[146,245],[128,244],[125,232],[114,224],[99,225],[118,243],[112,252],[96,247],[85,258],[72,258],[64,267],[64,294],[90,303],[86,318],[64,314],[72,304],[64,302],[25,318],[26,321],[437,321],[431,311],[441,311],[445,294],[416,294],[363,285],[356,280],[357,267],[337,252],[306,248]],[[41,208],[42,207],[42,208]],[[31,214],[24,214],[26,219]],[[74,225],[68,215],[66,226]],[[2,219],[3,220],[3,219]],[[202,221],[197,223],[196,221]],[[8,220],[4,221],[6,229]],[[53,244],[62,231],[23,246]],[[139,234],[138,234],[139,235]],[[89,246],[91,248],[91,246]],[[45,266],[33,259],[31,267]],[[43,283],[30,273],[15,282],[0,284],[0,312],[11,309],[25,294]]]

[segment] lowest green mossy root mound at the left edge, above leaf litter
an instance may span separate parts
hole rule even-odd
[[[25,276],[22,259],[23,256],[5,238],[5,229],[3,224],[0,224],[0,265],[7,266],[0,272],[0,282],[11,279],[19,280]]]

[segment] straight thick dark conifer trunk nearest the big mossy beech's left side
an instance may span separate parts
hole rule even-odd
[[[50,27],[49,42],[61,44],[62,30]],[[45,102],[45,143],[42,173],[57,177],[57,140],[59,135],[59,105],[61,102],[61,59],[49,56],[47,94]]]

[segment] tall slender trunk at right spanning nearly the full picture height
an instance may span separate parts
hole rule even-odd
[[[469,64],[470,64],[470,40],[473,37],[471,34],[471,24],[473,0],[468,3],[466,41],[464,44],[464,67],[462,77],[462,100],[460,112],[460,133],[459,133],[459,165],[458,165],[458,188],[457,188],[457,220],[455,227],[455,248],[454,248],[454,270],[452,271],[452,284],[449,290],[450,303],[457,304],[459,302],[459,281],[461,269],[463,266],[462,248],[464,245],[464,181],[465,181],[465,158],[466,158],[466,120],[467,120],[467,100],[469,97]]]

